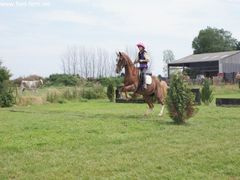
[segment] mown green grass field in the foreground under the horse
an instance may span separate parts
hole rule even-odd
[[[226,93],[227,92],[227,93]],[[239,97],[216,89],[215,97]],[[240,179],[240,107],[186,125],[107,100],[0,109],[0,179]]]

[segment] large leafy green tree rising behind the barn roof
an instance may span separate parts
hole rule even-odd
[[[238,41],[224,29],[207,27],[192,42],[194,54],[237,50]]]

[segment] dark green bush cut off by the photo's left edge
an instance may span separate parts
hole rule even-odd
[[[0,62],[0,107],[11,107],[15,103],[9,70]]]

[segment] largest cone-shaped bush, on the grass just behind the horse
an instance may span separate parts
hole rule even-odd
[[[196,112],[194,95],[187,88],[182,75],[172,76],[166,103],[170,118],[177,124],[185,123]]]

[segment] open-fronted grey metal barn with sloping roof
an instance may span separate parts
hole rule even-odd
[[[194,54],[168,64],[168,77],[172,70],[180,68],[204,75],[213,76],[234,76],[240,72],[240,51],[226,51],[216,53]]]

